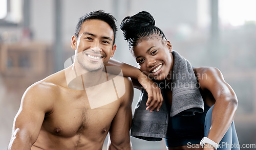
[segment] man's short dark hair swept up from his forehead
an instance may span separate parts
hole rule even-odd
[[[90,20],[90,19],[98,19],[98,20],[102,20],[102,21],[108,23],[110,25],[110,27],[113,29],[113,32],[114,32],[113,44],[115,44],[116,32],[117,32],[117,27],[116,27],[116,22],[115,22],[116,18],[113,15],[105,13],[102,10],[93,11],[93,12],[87,13],[86,15],[80,17],[79,21],[76,25],[75,36],[78,38],[78,34],[81,30],[82,23],[84,21]]]

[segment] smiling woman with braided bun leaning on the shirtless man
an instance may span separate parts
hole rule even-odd
[[[164,83],[164,85],[177,83],[177,74],[182,74],[179,70],[184,67],[186,73],[189,70],[191,73],[192,67],[190,67],[189,62],[184,61],[177,52],[173,51],[172,45],[165,38],[164,33],[155,26],[155,20],[150,13],[143,11],[134,16],[125,17],[121,22],[121,30],[125,40],[129,43],[129,49],[135,57],[140,71],[152,78],[158,85],[161,83]],[[179,59],[185,65],[179,64],[180,62],[177,62]],[[187,78],[188,80],[186,79],[187,81],[183,81],[183,85],[180,87],[172,85],[170,88],[166,88],[166,86],[161,88],[164,97],[162,98],[161,94],[156,92],[158,89],[152,86],[152,81],[145,79],[143,73],[138,69],[126,64],[115,63],[115,65],[121,66],[124,76],[138,79],[140,83],[136,84],[138,88],[143,86],[146,91],[150,91],[150,96],[154,95],[154,98],[148,98],[147,94],[141,95],[141,99],[143,97],[147,99],[146,105],[149,106],[146,107],[146,110],[151,109],[151,112],[153,112],[157,109],[159,111],[162,105],[161,99],[168,102],[166,108],[171,107],[171,112],[167,119],[168,129],[165,138],[167,149],[216,149],[218,144],[220,144],[218,149],[240,149],[236,146],[238,145],[238,138],[232,122],[237,111],[238,100],[218,69],[213,67],[193,68],[192,72],[195,72],[193,76],[195,74],[196,82],[200,85],[198,89],[202,95],[203,104],[201,103],[198,105],[199,107],[195,108],[198,111],[193,112],[193,115],[187,115],[186,113],[189,111],[186,109],[185,111],[178,111],[178,113],[172,112],[172,107],[181,103],[179,98],[178,101],[175,100],[176,103],[173,102],[174,96],[176,96],[173,92],[177,87],[178,90],[180,87],[184,89],[185,82],[189,80],[190,83],[190,76]],[[152,90],[150,86],[155,89]],[[194,95],[191,97],[195,98],[196,95],[195,99],[200,101],[200,96],[197,95],[195,87],[197,86],[194,86],[194,89],[190,89],[188,94],[185,93],[184,95],[187,96],[192,93]],[[151,99],[154,101],[150,103]],[[139,105],[145,104],[141,102],[139,102]],[[204,111],[202,112],[200,109]],[[154,111],[154,113],[158,112]],[[204,146],[199,146],[199,143]],[[228,144],[229,146],[227,146]]]

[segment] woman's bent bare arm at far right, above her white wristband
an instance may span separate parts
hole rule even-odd
[[[211,115],[211,128],[207,137],[219,143],[236,114],[238,99],[217,68],[201,67],[196,69],[196,72],[200,74],[201,89],[209,90],[216,100]]]

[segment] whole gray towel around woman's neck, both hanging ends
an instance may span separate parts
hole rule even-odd
[[[195,115],[195,112],[204,111],[203,98],[198,89],[198,83],[190,63],[173,51],[174,68],[172,74],[173,102],[169,109],[163,89],[161,89],[164,102],[159,112],[146,111],[147,92],[143,89],[137,106],[131,128],[131,136],[147,141],[160,141],[166,138],[168,118],[179,115]],[[155,81],[160,88],[165,81]]]

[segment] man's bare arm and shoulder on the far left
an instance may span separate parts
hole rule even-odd
[[[14,118],[8,149],[31,149],[41,129],[45,113],[50,111],[49,92],[42,85],[29,87]]]

